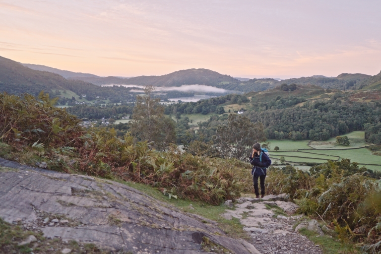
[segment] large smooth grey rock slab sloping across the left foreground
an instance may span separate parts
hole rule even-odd
[[[259,253],[213,221],[186,214],[112,181],[21,166],[0,158],[0,217],[46,238],[131,253],[202,253],[203,239],[237,254]],[[29,240],[28,240],[29,241]],[[33,241],[33,239],[32,239]]]

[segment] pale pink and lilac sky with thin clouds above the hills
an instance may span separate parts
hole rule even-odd
[[[381,0],[0,0],[0,56],[107,76],[375,75]]]

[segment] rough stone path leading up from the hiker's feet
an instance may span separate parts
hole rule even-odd
[[[262,254],[322,254],[318,245],[294,232],[293,226],[302,216],[292,216],[298,206],[286,200],[285,194],[268,195],[262,199],[241,197],[235,210],[227,209],[222,217],[240,219],[244,230],[252,236],[252,244]]]

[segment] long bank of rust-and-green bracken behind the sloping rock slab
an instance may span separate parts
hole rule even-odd
[[[38,99],[0,94],[0,137],[21,153],[32,150],[50,169],[142,182],[174,197],[217,205],[251,189],[248,163],[193,156],[177,146],[160,152],[129,133],[119,138],[114,128],[86,130],[55,103],[43,93]],[[62,160],[72,157],[77,163],[71,166]]]

